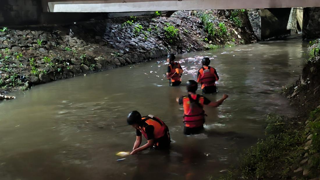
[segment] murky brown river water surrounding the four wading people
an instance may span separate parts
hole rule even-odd
[[[292,115],[283,85],[300,74],[306,44],[298,38],[178,55],[185,70],[168,86],[165,58],[119,67],[15,92],[0,103],[1,180],[210,179],[236,165],[239,153],[264,137],[264,115]],[[213,57],[220,80],[219,108],[205,108],[205,132],[184,136],[176,97],[196,79],[201,56]],[[201,93],[200,90],[198,93]],[[138,110],[160,117],[170,129],[169,151],[146,150],[122,161],[135,130],[126,116]],[[145,142],[145,140],[143,141]]]

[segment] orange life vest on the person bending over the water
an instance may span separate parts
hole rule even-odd
[[[156,116],[153,116],[153,117],[145,116],[145,117],[142,117],[141,120],[142,122],[145,122],[148,125],[153,125],[154,127],[153,135],[155,139],[158,139],[164,136],[165,130],[167,129],[167,125],[165,125],[161,119],[159,119]],[[140,127],[140,131],[141,131],[141,134],[143,134],[143,136],[146,139],[148,139],[145,127]]]

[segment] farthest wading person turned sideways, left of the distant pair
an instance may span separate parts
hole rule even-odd
[[[172,53],[167,57],[169,66],[165,74],[167,75],[167,79],[169,79],[170,86],[179,86],[181,84],[181,74],[183,70],[179,63],[174,62],[175,58],[176,57]]]

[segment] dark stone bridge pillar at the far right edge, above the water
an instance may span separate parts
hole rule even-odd
[[[320,7],[303,8],[302,38],[304,40],[320,38]]]

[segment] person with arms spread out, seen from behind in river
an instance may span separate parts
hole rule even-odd
[[[203,109],[204,105],[218,107],[228,98],[227,94],[223,94],[219,101],[211,102],[203,95],[196,94],[197,89],[198,83],[194,80],[189,80],[187,82],[188,95],[177,98],[179,104],[183,105],[183,133],[186,135],[199,134],[204,129],[204,116],[206,116]]]

